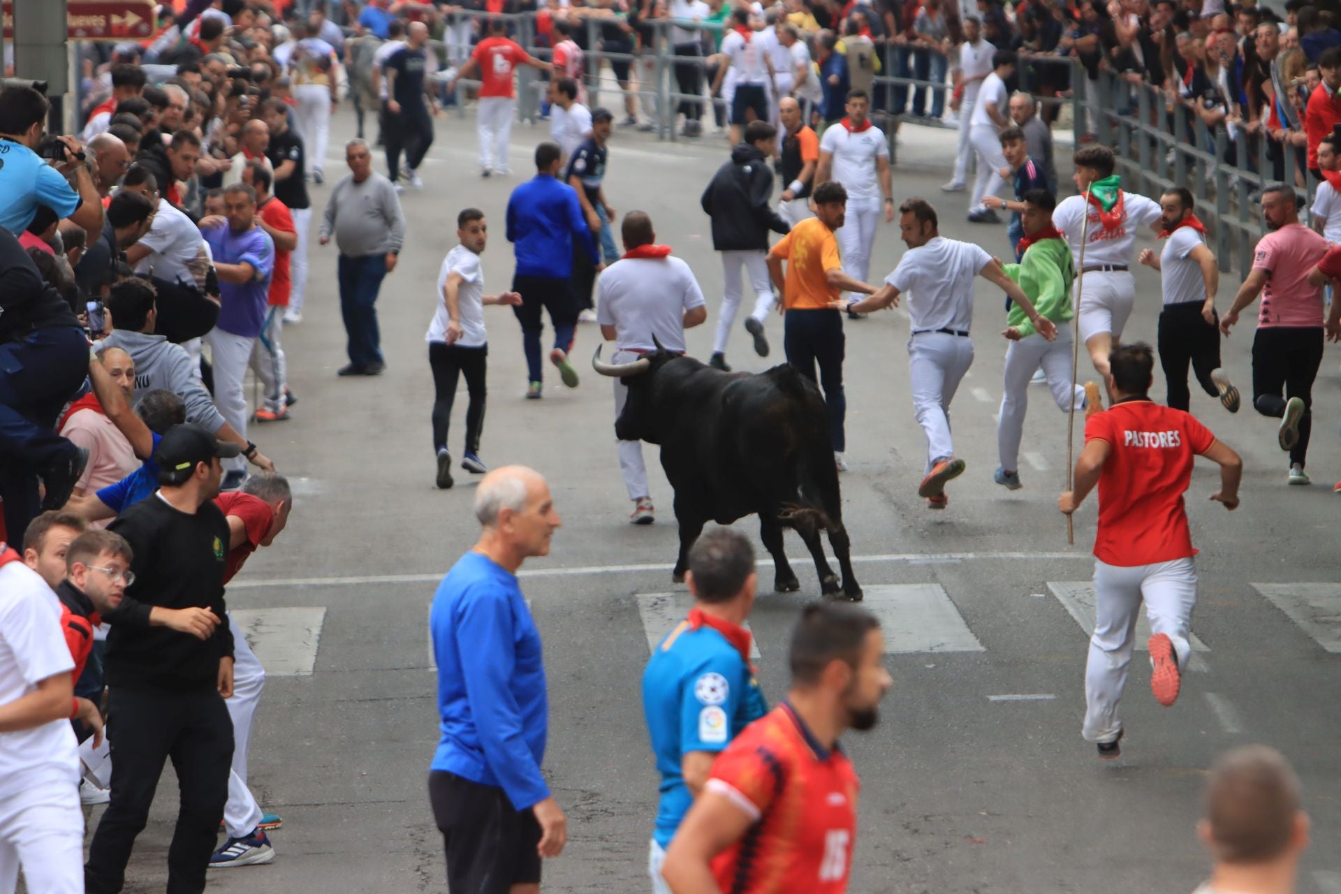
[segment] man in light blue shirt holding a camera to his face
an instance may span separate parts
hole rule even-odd
[[[0,90],[0,227],[21,233],[32,222],[38,205],[46,205],[97,239],[102,232],[98,188],[83,164],[78,139],[44,138],[50,109],[47,98],[32,87]],[[74,189],[66,180],[70,172]]]

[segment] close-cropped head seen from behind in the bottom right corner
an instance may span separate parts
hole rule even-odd
[[[1309,847],[1309,816],[1289,761],[1266,745],[1220,756],[1196,831],[1215,858],[1196,894],[1290,894]]]

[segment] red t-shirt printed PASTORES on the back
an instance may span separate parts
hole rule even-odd
[[[1183,492],[1192,457],[1215,436],[1191,413],[1148,399],[1124,401],[1085,424],[1085,442],[1108,441],[1098,478],[1094,558],[1112,566],[1147,566],[1195,556]]]

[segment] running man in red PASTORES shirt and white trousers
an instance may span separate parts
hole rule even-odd
[[[1220,464],[1220,489],[1211,499],[1239,505],[1243,462],[1189,413],[1160,406],[1148,393],[1155,381],[1149,344],[1121,344],[1109,354],[1113,406],[1085,422],[1085,449],[1075,462],[1074,489],[1058,508],[1070,515],[1098,485],[1094,537],[1094,635],[1085,666],[1085,725],[1081,735],[1098,756],[1121,755],[1117,704],[1132,662],[1136,613],[1145,600],[1151,619],[1151,690],[1161,705],[1177,700],[1196,604],[1192,535],[1183,492],[1196,456]]]

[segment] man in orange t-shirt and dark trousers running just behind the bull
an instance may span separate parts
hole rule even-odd
[[[876,287],[842,272],[834,231],[843,224],[848,190],[833,181],[819,184],[814,201],[815,217],[793,227],[768,252],[768,275],[774,287],[782,292],[784,306],[783,351],[789,363],[811,382],[818,382],[825,391],[834,462],[842,472],[848,468],[843,460],[843,450],[848,449],[843,436],[848,399],[842,393],[845,339],[842,312],[829,310],[829,303],[837,300],[841,291],[872,295]]]

